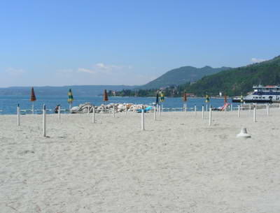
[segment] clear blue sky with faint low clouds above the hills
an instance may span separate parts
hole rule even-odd
[[[0,1],[0,87],[141,85],[280,54],[280,1]]]

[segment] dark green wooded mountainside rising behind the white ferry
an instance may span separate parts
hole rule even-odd
[[[269,61],[221,71],[205,76],[193,85],[182,85],[180,90],[186,90],[197,96],[218,95],[219,91],[229,96],[238,96],[252,91],[253,85],[280,84],[280,56]]]

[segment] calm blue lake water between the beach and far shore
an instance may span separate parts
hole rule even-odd
[[[32,103],[29,101],[29,96],[0,96],[0,114],[16,114],[17,105],[20,104],[21,110],[31,109]],[[53,110],[57,104],[61,105],[62,109],[69,109],[67,96],[37,96],[37,101],[34,101],[34,109],[41,109],[43,104],[50,110]],[[102,96],[74,96],[72,106],[80,103],[90,102],[94,105],[101,105]],[[229,100],[230,101],[230,100]],[[140,98],[140,97],[109,97],[108,103],[137,103],[137,104],[152,104],[155,98]],[[202,105],[205,105],[205,98],[188,98],[188,108],[193,108],[197,105],[197,110],[201,110]],[[223,98],[212,98],[211,105],[218,108],[223,105]],[[237,105],[235,103],[235,105]],[[163,102],[164,108],[181,108],[183,106],[182,98],[165,98]]]

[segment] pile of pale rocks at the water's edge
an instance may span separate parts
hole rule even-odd
[[[148,105],[144,105],[144,108],[147,108]],[[93,109],[96,113],[108,113],[108,112],[136,112],[142,108],[142,104],[133,104],[133,103],[109,103],[107,105],[92,105],[91,103],[81,103],[78,106],[71,108],[70,113],[87,113],[90,110],[90,113],[93,112]]]

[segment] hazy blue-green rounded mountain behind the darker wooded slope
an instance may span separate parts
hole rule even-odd
[[[205,75],[212,75],[214,73],[228,69],[230,68],[211,68],[211,66],[195,68],[193,66],[182,66],[181,68],[175,68],[171,71],[168,71],[159,78],[148,82],[148,84],[138,87],[138,89],[159,89],[160,87],[182,85],[186,82],[195,82],[200,80]]]

